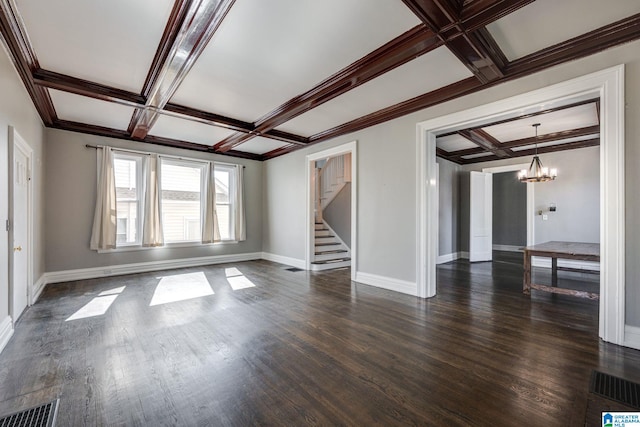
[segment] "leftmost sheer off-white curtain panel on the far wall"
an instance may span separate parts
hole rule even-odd
[[[102,152],[100,152],[102,151]],[[100,175],[91,230],[92,250],[116,247],[116,178],[113,173],[113,152],[110,147],[98,150]]]

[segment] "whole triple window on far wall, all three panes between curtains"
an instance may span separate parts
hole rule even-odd
[[[205,215],[209,163],[174,157],[158,159],[158,173],[148,174],[149,156],[145,153],[113,152],[113,173],[116,187],[116,248],[143,246],[145,215],[155,215],[153,209],[145,213],[145,191],[158,177],[160,198],[160,226],[162,244],[200,244]],[[155,159],[155,157],[154,157]],[[238,200],[238,166],[215,164],[215,192],[218,230],[222,241],[236,240],[236,200]],[[98,171],[98,173],[100,173]],[[150,187],[151,188],[151,187]],[[153,198],[149,200],[152,202]],[[150,219],[153,221],[153,219]],[[111,229],[113,230],[113,229]],[[110,231],[111,232],[111,231]],[[244,240],[244,234],[242,234]],[[207,241],[210,241],[207,237]]]

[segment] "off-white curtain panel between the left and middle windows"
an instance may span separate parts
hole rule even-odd
[[[157,154],[149,155],[146,160],[145,190],[142,246],[162,246],[164,235],[160,210],[160,160]]]

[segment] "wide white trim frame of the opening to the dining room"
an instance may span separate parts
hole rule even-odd
[[[594,97],[600,97],[601,141],[599,336],[615,344],[631,344],[625,340],[624,64],[417,124],[419,296],[436,293],[436,135]]]

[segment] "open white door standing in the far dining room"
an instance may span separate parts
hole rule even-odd
[[[469,192],[469,261],[491,261],[493,248],[492,175],[484,172],[471,172]]]

